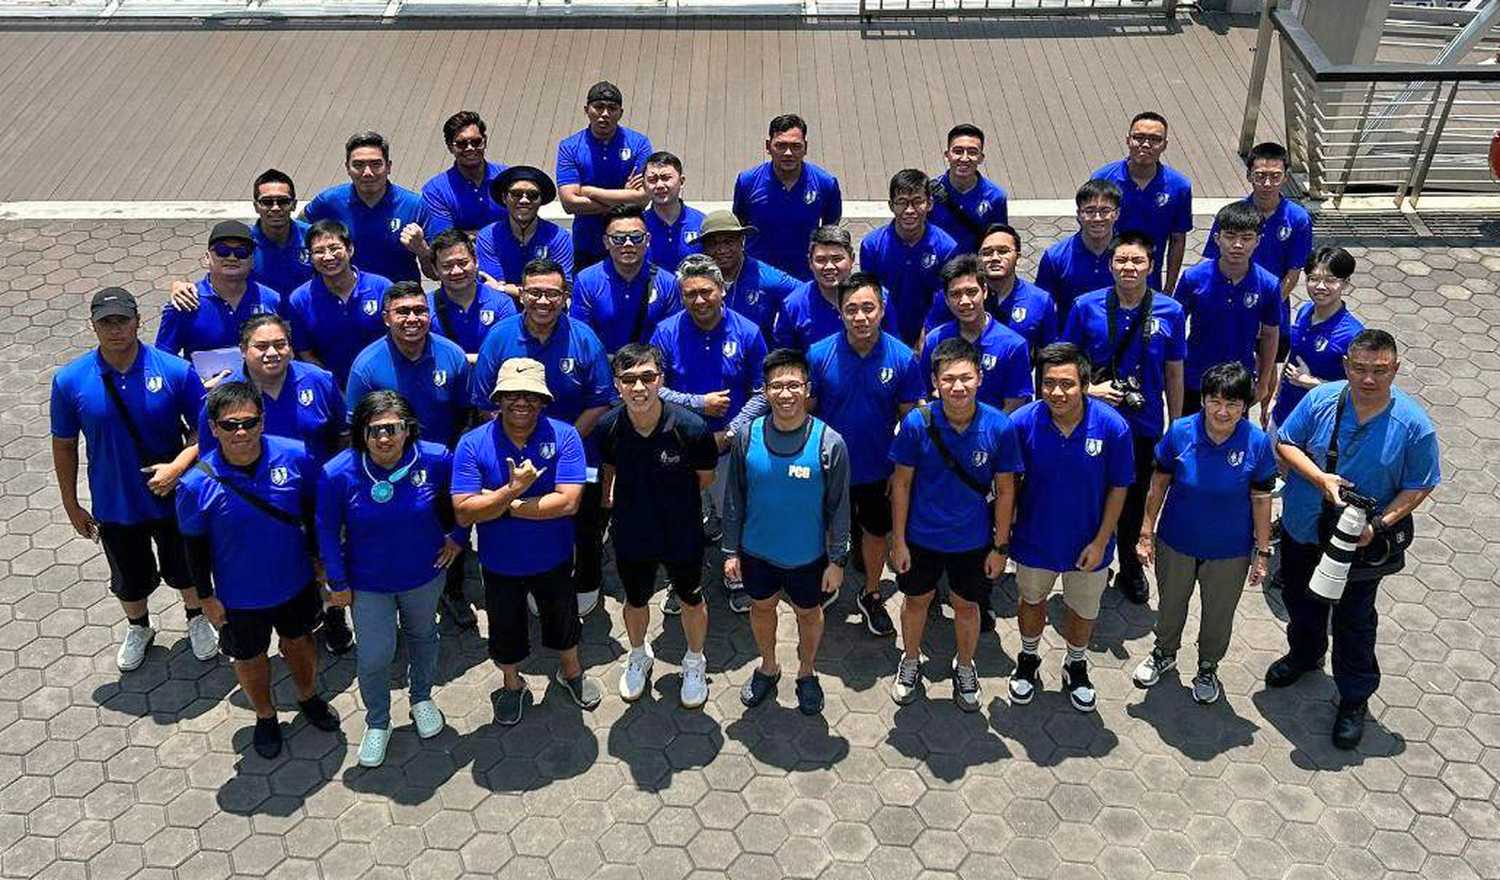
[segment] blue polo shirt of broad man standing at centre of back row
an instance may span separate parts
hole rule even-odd
[[[770,162],[741,171],[735,178],[735,216],[758,232],[746,241],[750,256],[770,262],[798,280],[810,280],[807,243],[813,229],[843,219],[838,178],[812,162],[790,187],[782,186]]]

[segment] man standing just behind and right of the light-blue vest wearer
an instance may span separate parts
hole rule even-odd
[[[872,636],[890,636],[896,628],[880,601],[880,573],[891,534],[891,435],[927,382],[912,349],[882,331],[885,291],[873,274],[852,274],[838,286],[838,310],[843,331],[807,352],[812,396],[819,418],[849,447],[849,511],[861,531],[866,579],[860,616]]]

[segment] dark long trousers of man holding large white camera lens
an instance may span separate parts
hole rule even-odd
[[[1312,595],[1308,580],[1323,549],[1281,538],[1281,600],[1287,606],[1287,648],[1292,663],[1304,669],[1323,664],[1329,630],[1334,634],[1334,684],[1346,703],[1364,703],[1380,687],[1376,660],[1376,592],[1380,579],[1350,582],[1338,604]],[[1330,627],[1332,624],[1332,627]]]

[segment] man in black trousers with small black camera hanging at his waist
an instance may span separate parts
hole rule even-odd
[[[1180,303],[1148,286],[1150,240],[1146,235],[1122,232],[1114,240],[1110,268],[1114,285],[1080,297],[1062,337],[1082,348],[1094,363],[1089,397],[1114,406],[1130,423],[1136,441],[1136,481],[1119,520],[1120,547],[1131,549],[1140,540],[1150,462],[1166,430],[1162,409],[1167,421],[1182,415],[1186,316]],[[1150,598],[1146,573],[1134,553],[1120,553],[1116,586],[1136,604]]]

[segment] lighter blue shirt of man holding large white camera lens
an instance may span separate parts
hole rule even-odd
[[[1300,447],[1318,468],[1328,465],[1328,445],[1334,436],[1338,399],[1348,382],[1323,382],[1298,403],[1276,441]],[[1359,424],[1354,402],[1344,405],[1338,424],[1338,475],[1354,484],[1354,492],[1376,499],[1378,508],[1407,489],[1431,489],[1443,475],[1438,466],[1437,430],[1422,405],[1401,388],[1390,390],[1390,403]],[[1323,493],[1296,471],[1287,472],[1281,493],[1281,526],[1302,544],[1317,543],[1317,517]]]

